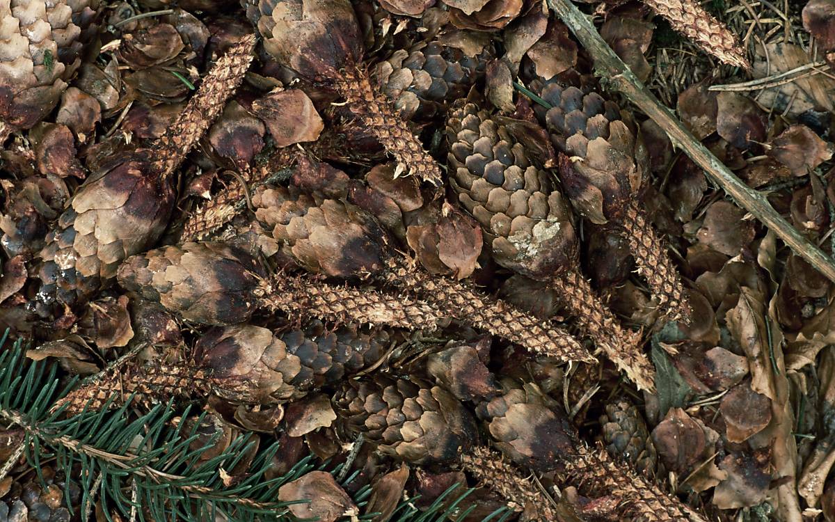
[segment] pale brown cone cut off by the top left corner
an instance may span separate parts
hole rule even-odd
[[[98,0],[0,4],[0,144],[58,104],[98,10]]]

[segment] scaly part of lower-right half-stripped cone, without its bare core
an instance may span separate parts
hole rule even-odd
[[[476,408],[494,445],[517,464],[540,471],[554,469],[574,451],[573,428],[559,414],[559,404],[533,383],[504,378],[502,387],[502,395]]]

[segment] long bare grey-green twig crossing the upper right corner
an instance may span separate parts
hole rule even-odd
[[[792,247],[812,267],[830,281],[835,281],[835,262],[812,245],[768,203],[765,195],[746,185],[729,170],[710,150],[699,142],[679,119],[671,113],[655,94],[650,92],[626,64],[605,43],[595,26],[570,0],[548,0],[548,6],[571,29],[574,36],[595,60],[595,72],[605,84],[620,91],[632,103],[664,129],[674,145],[684,150],[713,180],[742,208],[761,220],[782,241]]]

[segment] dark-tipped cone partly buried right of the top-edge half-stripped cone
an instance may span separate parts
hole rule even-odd
[[[397,49],[377,63],[374,78],[403,118],[432,119],[446,112],[450,100],[463,98],[483,77],[490,54],[470,57],[438,40]]]

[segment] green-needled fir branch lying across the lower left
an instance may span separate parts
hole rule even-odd
[[[43,483],[41,464],[54,459],[56,468],[67,477],[67,493],[73,478],[78,481],[83,520],[89,519],[97,497],[108,518],[111,513],[119,513],[130,520],[195,520],[215,519],[220,514],[234,522],[296,520],[287,506],[297,501],[276,501],[278,489],[314,469],[312,457],[302,459],[281,477],[267,479],[266,472],[272,469],[278,450],[278,443],[272,443],[257,452],[248,469],[236,474],[243,478],[240,482],[226,485],[220,470],[235,469],[240,459],[251,453],[251,435],[240,435],[220,454],[201,461],[216,440],[192,448],[200,438],[198,428],[205,413],[187,429],[181,420],[190,417],[189,407],[176,412],[173,403],[159,404],[130,420],[131,397],[115,411],[109,411],[105,405],[99,412],[87,408],[63,418],[66,407],[53,406],[77,379],[58,391],[58,365],[29,361],[19,340],[12,349],[3,351],[7,337],[8,331],[0,337],[0,421],[15,424],[25,433],[20,452],[13,454],[13,462],[25,453]],[[331,473],[338,476],[341,469],[337,466]],[[343,484],[355,479],[356,474]],[[461,517],[474,505],[463,506],[472,490],[455,494],[458,489],[458,485],[451,487],[424,511],[414,507],[414,498],[404,499],[391,520],[442,522],[453,515]],[[363,488],[353,495],[353,500],[362,507],[370,493],[370,487]],[[70,495],[65,494],[64,498],[69,499]],[[78,506],[68,506],[75,507]],[[373,515],[365,514],[360,519],[370,520]]]

